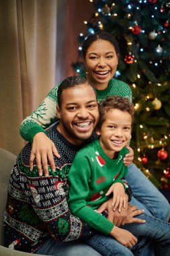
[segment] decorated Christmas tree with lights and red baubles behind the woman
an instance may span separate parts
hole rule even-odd
[[[91,2],[91,3],[90,3]],[[157,187],[170,189],[170,1],[89,0],[93,13],[79,35],[77,73],[85,73],[81,43],[110,32],[118,40],[116,79],[132,89],[134,163]]]

